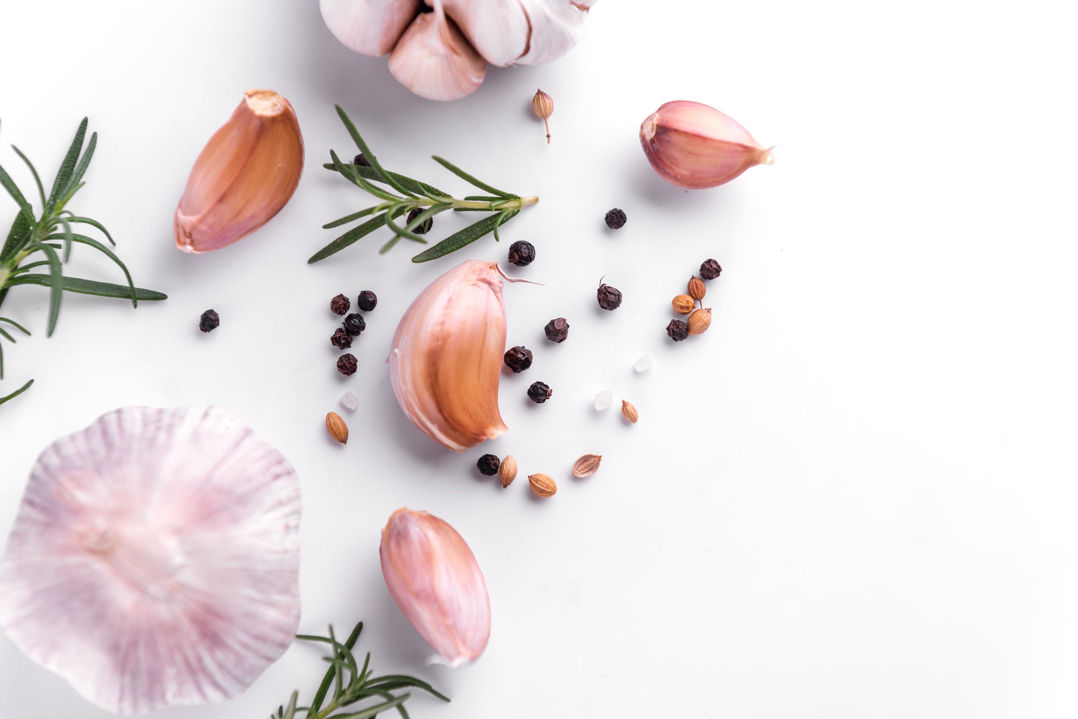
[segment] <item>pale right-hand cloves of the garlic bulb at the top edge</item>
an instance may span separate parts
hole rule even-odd
[[[445,12],[492,65],[541,65],[569,52],[592,1],[444,0]]]

